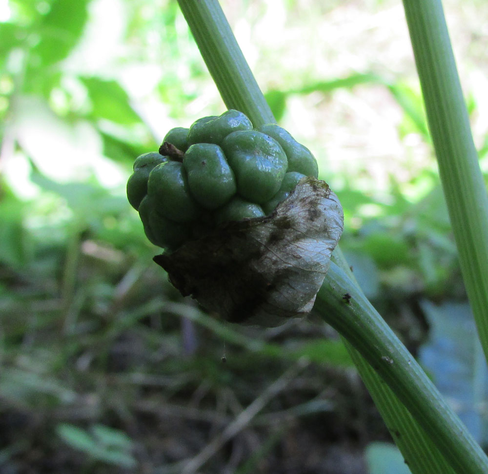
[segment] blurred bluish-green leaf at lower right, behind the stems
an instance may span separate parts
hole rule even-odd
[[[422,303],[430,325],[429,339],[419,360],[439,391],[480,443],[488,442],[484,404],[488,396],[488,370],[469,304]]]

